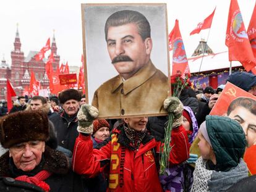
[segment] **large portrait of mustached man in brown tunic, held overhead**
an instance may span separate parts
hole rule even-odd
[[[98,117],[167,114],[163,109],[170,94],[166,4],[81,4],[81,9],[85,94],[99,110]],[[140,15],[150,27],[139,27],[135,20],[142,19]],[[150,36],[142,28],[149,28]]]

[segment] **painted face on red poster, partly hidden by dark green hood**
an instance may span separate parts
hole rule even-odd
[[[245,107],[239,106],[231,111],[228,117],[240,123],[246,135],[248,146],[256,144],[256,115]]]

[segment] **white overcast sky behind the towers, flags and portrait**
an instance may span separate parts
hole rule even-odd
[[[53,36],[55,30],[58,54],[61,62],[80,66],[82,54],[81,3],[108,3],[121,1],[79,1],[79,0],[8,0],[0,1],[0,59],[4,57],[11,64],[11,51],[14,49],[16,23],[19,23],[20,41],[25,57],[29,51],[39,51],[46,40]],[[190,31],[213,12],[215,17],[211,26],[208,45],[213,52],[226,51],[224,45],[226,23],[228,19],[229,0],[169,0],[169,1],[122,1],[122,2],[166,2],[168,9],[169,31],[174,27],[175,19],[179,26],[187,57],[190,57],[201,38],[207,39],[208,30],[200,35],[189,36]],[[238,0],[248,27],[254,9],[255,0]],[[152,13],[154,14],[154,13]]]

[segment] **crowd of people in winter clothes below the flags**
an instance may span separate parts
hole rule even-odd
[[[233,73],[228,81],[256,95],[255,75]],[[187,87],[164,101],[174,114],[164,175],[168,115],[96,119],[98,109],[74,89],[19,96],[9,113],[1,101],[0,190],[253,191],[255,165],[244,153],[256,146],[256,101],[237,98],[226,116],[209,115],[223,88]]]

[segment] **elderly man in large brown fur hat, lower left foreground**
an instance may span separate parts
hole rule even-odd
[[[0,158],[0,191],[83,191],[62,152],[46,145],[45,113],[22,111],[0,119],[0,140],[8,148]]]

